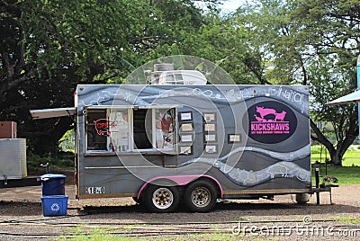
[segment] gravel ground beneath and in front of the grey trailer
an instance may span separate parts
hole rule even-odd
[[[333,204],[329,192],[322,192],[321,205],[315,195],[306,205],[284,195],[274,201],[220,202],[210,213],[147,213],[130,198],[77,201],[73,185],[66,185],[66,194],[67,216],[43,217],[40,186],[0,190],[0,240],[57,239],[92,228],[144,240],[360,239],[360,185],[333,188]],[[279,228],[285,233],[279,235]]]

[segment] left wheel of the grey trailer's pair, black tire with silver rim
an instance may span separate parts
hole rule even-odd
[[[173,212],[179,205],[179,192],[173,186],[150,185],[144,194],[142,203],[150,212]]]

